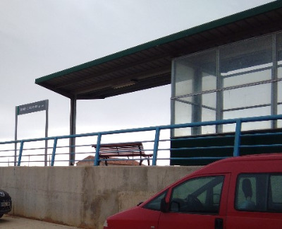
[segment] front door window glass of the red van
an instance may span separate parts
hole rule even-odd
[[[173,188],[171,212],[219,213],[224,176],[200,177],[187,180]]]

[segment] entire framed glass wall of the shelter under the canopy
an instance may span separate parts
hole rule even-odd
[[[172,124],[281,113],[282,33],[180,57],[173,66]],[[179,114],[181,110],[185,112]],[[276,124],[246,124],[243,129],[271,127]],[[195,127],[174,136],[226,131],[230,129]]]

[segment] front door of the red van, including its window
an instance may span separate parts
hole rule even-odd
[[[229,174],[190,178],[171,188],[158,229],[223,229]]]

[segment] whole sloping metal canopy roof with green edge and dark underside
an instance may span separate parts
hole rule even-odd
[[[282,30],[282,1],[168,35],[35,83],[68,98],[90,100],[171,83],[171,60],[193,52]]]

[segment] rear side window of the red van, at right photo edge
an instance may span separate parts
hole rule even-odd
[[[235,209],[239,211],[282,211],[282,174],[238,176]]]

